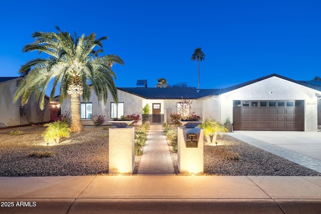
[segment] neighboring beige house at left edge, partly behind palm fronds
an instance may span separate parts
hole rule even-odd
[[[43,123],[50,120],[49,98],[45,98],[45,109],[41,110],[34,96],[26,105],[21,98],[13,102],[21,77],[0,77],[0,127]]]

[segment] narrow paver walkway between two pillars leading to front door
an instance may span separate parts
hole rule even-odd
[[[137,175],[175,175],[169,146],[161,125],[150,125]]]

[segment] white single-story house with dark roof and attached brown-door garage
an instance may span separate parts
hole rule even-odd
[[[151,107],[151,122],[171,123],[170,114],[178,112],[182,97],[193,101],[191,109],[201,120],[213,118],[223,123],[229,118],[234,130],[317,131],[321,124],[321,86],[311,81],[271,74],[226,89],[146,86],[137,81],[136,88],[118,88],[119,102],[114,103],[110,95],[106,105],[92,94],[81,104],[83,124],[92,125],[93,114],[105,115],[106,121],[128,114],[142,117],[146,104]],[[69,110],[70,99],[61,108]]]

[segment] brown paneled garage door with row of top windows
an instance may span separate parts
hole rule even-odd
[[[303,100],[234,100],[234,130],[304,131]]]

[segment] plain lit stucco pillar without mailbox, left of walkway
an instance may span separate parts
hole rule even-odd
[[[135,166],[135,127],[109,128],[109,173],[132,173]]]

